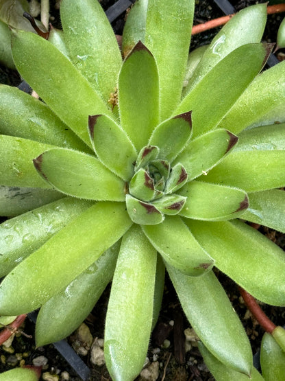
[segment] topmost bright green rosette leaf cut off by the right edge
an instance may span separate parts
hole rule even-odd
[[[284,122],[284,78],[285,62],[256,77],[221,120],[219,127],[238,133],[248,126]]]

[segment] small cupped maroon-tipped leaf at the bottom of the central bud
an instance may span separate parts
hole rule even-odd
[[[164,216],[156,207],[152,204],[144,203],[137,198],[127,194],[125,197],[125,203],[127,205],[127,213],[129,218],[136,224],[154,225],[160,224],[164,220]]]

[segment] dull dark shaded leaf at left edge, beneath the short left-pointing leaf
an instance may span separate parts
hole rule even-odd
[[[64,195],[53,189],[5,187],[0,185],[0,216],[14,217],[52,203]]]

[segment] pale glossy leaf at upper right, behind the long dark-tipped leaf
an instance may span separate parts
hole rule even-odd
[[[232,17],[213,38],[189,81],[186,91],[193,89],[218,62],[234,49],[249,43],[259,43],[266,21],[267,6],[265,4],[247,7]]]

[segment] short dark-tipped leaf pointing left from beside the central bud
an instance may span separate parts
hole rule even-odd
[[[83,152],[52,148],[36,159],[38,173],[55,189],[90,200],[125,200],[124,182],[96,157]]]

